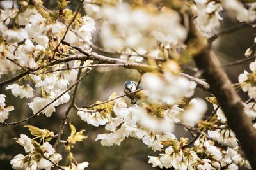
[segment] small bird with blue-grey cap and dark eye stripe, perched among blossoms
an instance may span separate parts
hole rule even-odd
[[[138,100],[145,97],[142,91],[129,94],[131,92],[135,92],[136,90],[143,90],[143,85],[139,85],[137,87],[137,83],[134,81],[125,81],[124,83],[124,92],[128,94],[127,97],[132,100],[132,103],[135,104]]]

